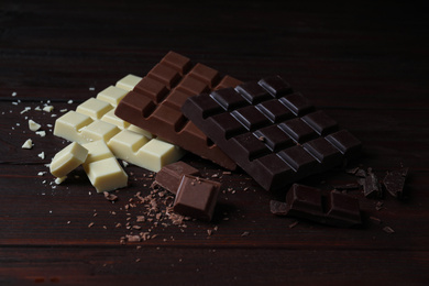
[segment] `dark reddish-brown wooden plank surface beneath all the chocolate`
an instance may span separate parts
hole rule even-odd
[[[427,285],[427,10],[373,2],[1,1],[0,285]],[[242,80],[282,74],[362,140],[352,164],[381,177],[408,166],[408,198],[366,199],[355,190],[362,227],[289,228],[297,220],[270,213],[278,195],[189,154],[185,162],[223,183],[216,219],[156,226],[135,222],[143,205],[125,209],[138,191],[150,194],[150,172],[127,167],[130,186],[116,204],[81,170],[57,187],[50,174],[37,175],[66,144],[47,127],[52,114],[127,74],[144,76],[168,51]],[[47,100],[52,113],[34,110]],[[29,119],[47,135],[31,132]],[[34,147],[22,150],[29,138]],[[329,189],[354,179],[338,168],[301,183]],[[157,237],[121,245],[129,217]]]

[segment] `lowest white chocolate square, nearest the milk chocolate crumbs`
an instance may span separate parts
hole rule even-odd
[[[128,184],[128,175],[114,157],[85,164],[84,169],[97,193],[123,188]]]

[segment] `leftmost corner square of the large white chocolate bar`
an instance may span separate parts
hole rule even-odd
[[[86,140],[82,139],[79,131],[91,122],[90,117],[70,110],[55,121],[54,135],[68,141],[85,143]]]

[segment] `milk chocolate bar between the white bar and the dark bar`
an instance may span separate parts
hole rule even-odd
[[[201,92],[235,87],[241,81],[174,52],[167,53],[119,103],[116,116],[228,169],[235,163],[180,111]]]

